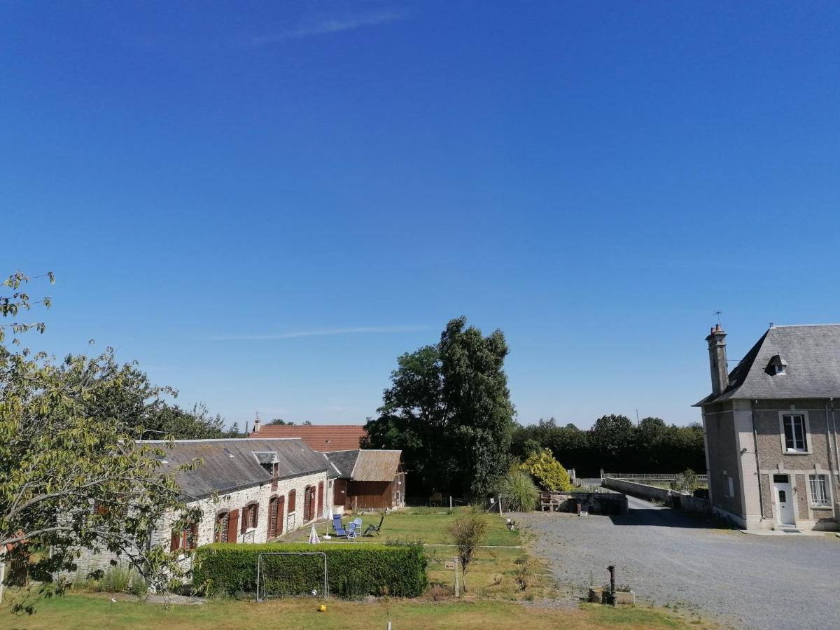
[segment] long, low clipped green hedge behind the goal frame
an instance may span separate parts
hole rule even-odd
[[[419,544],[209,544],[196,549],[192,581],[208,595],[256,593],[257,555],[270,552],[327,554],[329,592],[343,597],[416,597],[426,589],[428,560]],[[323,591],[322,556],[263,556],[260,593],[307,595]]]

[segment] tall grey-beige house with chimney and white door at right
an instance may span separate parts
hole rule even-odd
[[[748,529],[837,529],[840,324],[771,326],[731,372],[726,336],[706,337],[711,394],[696,403],[712,509]]]

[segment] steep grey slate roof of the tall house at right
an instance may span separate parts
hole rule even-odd
[[[769,328],[729,373],[726,391],[697,405],[744,398],[840,398],[840,324]]]

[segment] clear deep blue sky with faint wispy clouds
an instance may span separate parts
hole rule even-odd
[[[840,320],[838,3],[0,5],[3,273],[228,422],[351,423],[461,314],[520,422],[690,423],[720,309]]]

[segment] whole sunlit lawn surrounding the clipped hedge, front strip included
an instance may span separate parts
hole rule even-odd
[[[416,600],[380,598],[371,601],[331,599],[327,612],[317,612],[320,599],[255,601],[210,600],[203,605],[169,607],[135,601],[129,596],[76,591],[71,595],[39,602],[33,617],[11,617],[0,606],[0,627],[21,628],[236,628],[273,627],[279,620],[295,628],[406,628],[465,627],[511,628],[712,628],[699,618],[687,618],[662,608],[636,606],[577,606],[574,597],[559,596],[543,562],[528,554],[531,534],[508,531],[504,517],[482,515],[487,522],[485,547],[478,550],[466,576],[468,591],[453,596],[454,571],[444,563],[453,559],[449,526],[470,508],[412,508],[388,514],[382,536],[360,538],[356,543],[332,539],[334,544],[381,544],[389,539],[426,543],[429,557],[429,590]],[[379,522],[379,515],[362,517]],[[318,523],[318,533],[327,530]],[[283,537],[283,541],[306,540],[308,531]],[[575,594],[576,595],[582,595]],[[8,615],[8,617],[3,617]]]

